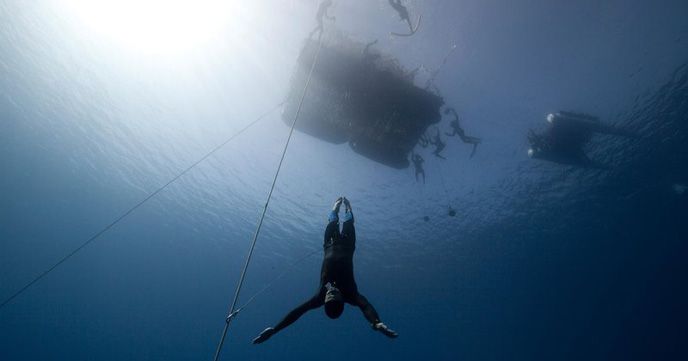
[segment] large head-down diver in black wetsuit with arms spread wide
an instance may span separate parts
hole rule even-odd
[[[346,206],[342,232],[339,232],[339,207]],[[320,286],[316,294],[302,305],[289,312],[275,327],[268,327],[253,339],[254,344],[263,343],[275,333],[291,325],[304,313],[325,306],[325,313],[332,319],[339,318],[344,303],[358,306],[373,330],[387,337],[395,338],[397,333],[380,321],[373,305],[358,292],[354,281],[353,256],[356,248],[356,230],[351,204],[346,198],[338,198],[328,217],[325,228],[325,255],[320,271]]]

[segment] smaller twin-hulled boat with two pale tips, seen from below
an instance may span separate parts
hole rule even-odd
[[[528,134],[528,156],[534,159],[547,160],[559,164],[568,164],[586,168],[608,169],[585,154],[583,146],[594,133],[635,137],[631,132],[600,123],[597,117],[560,111],[547,115],[549,127],[537,134],[530,130]]]

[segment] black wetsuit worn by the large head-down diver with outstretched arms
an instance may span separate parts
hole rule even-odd
[[[298,320],[304,313],[319,308],[325,304],[325,285],[329,282],[335,285],[344,298],[344,302],[358,306],[371,324],[380,322],[380,318],[373,305],[358,292],[354,280],[354,251],[356,249],[356,229],[353,215],[345,221],[342,232],[339,232],[339,219],[327,224],[325,241],[323,244],[324,258],[320,270],[320,286],[318,291],[308,301],[289,312],[282,321],[275,326],[279,331]]]

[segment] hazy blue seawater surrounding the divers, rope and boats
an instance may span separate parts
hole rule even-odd
[[[212,360],[283,155],[220,359],[688,359],[688,2],[401,3],[412,36],[387,0],[324,31],[443,98],[425,184],[298,129],[283,153],[319,0],[0,0],[0,360]],[[608,169],[529,158],[561,110],[636,136],[591,139]],[[347,306],[252,344],[316,291],[342,195],[399,337]]]

